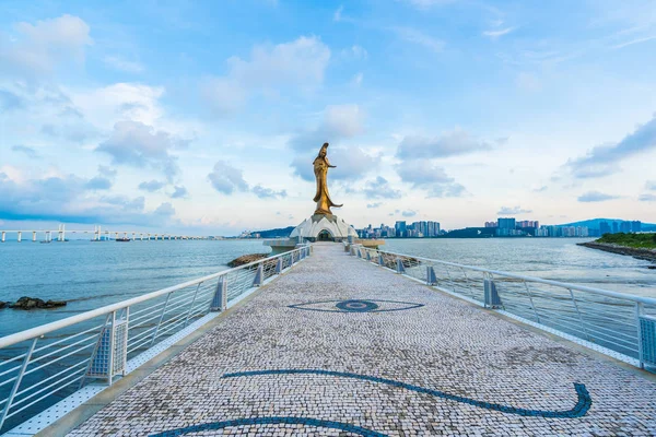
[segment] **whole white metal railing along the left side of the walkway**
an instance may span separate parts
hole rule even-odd
[[[306,245],[0,338],[0,433],[92,381],[112,385],[128,359],[309,255]]]

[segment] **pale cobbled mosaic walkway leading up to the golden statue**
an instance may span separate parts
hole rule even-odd
[[[651,436],[656,383],[316,244],[70,435]]]

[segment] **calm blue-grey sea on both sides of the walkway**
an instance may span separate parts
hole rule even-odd
[[[647,261],[576,246],[585,239],[399,239],[385,249],[656,297]],[[0,309],[0,336],[227,269],[261,240],[68,241],[0,245],[0,300],[68,300],[59,309]]]

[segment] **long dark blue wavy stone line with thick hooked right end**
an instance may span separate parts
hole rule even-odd
[[[478,406],[487,410],[500,411],[507,414],[517,414],[525,417],[555,417],[555,418],[576,418],[583,417],[587,414],[588,410],[593,405],[593,399],[588,393],[585,385],[574,382],[574,390],[578,395],[576,405],[567,411],[543,411],[543,410],[528,410],[519,409],[516,406],[502,405],[499,403],[477,401],[476,399],[469,399],[456,394],[445,393],[444,391],[426,389],[419,386],[412,386],[410,383],[395,381],[394,379],[378,378],[367,375],[358,375],[343,371],[330,371],[330,370],[317,370],[317,369],[279,369],[279,370],[254,370],[254,371],[238,371],[234,374],[225,374],[223,378],[238,378],[247,376],[260,376],[260,375],[326,375],[336,376],[341,378],[354,378],[362,379],[364,381],[386,383],[393,387],[399,387],[407,390],[412,390],[418,393],[431,394],[436,398],[447,399],[449,401],[456,401],[466,403],[468,405]]]

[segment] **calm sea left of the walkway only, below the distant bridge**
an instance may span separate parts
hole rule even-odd
[[[0,300],[67,300],[56,309],[0,309],[0,336],[227,269],[261,240],[7,241],[0,244]]]

